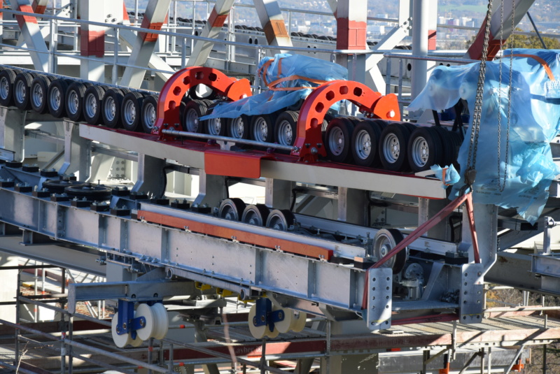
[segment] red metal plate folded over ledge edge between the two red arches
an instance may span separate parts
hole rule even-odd
[[[245,154],[227,150],[204,151],[204,171],[210,175],[260,178],[260,160],[274,159],[268,154]]]

